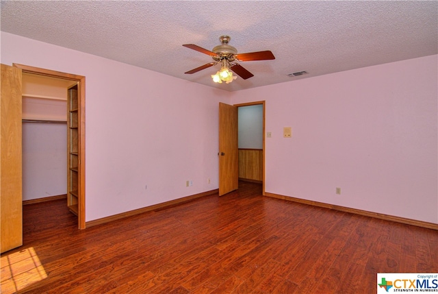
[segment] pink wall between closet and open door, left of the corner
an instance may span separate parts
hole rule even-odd
[[[86,76],[86,221],[218,188],[228,92],[1,32],[13,62]]]

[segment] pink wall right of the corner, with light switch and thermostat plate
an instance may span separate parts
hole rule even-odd
[[[437,63],[427,56],[233,93],[233,103],[266,100],[266,192],[438,223]]]

